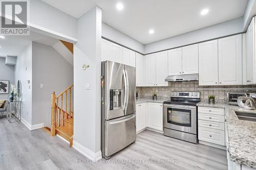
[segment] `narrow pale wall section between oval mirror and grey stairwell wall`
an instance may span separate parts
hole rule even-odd
[[[18,55],[15,65],[15,84],[22,82],[22,118],[32,123],[32,42]],[[27,81],[30,81],[28,83]]]

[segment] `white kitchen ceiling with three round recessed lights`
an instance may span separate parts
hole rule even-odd
[[[102,21],[143,44],[198,30],[244,15],[247,0],[41,0],[74,17],[95,5]],[[116,4],[122,3],[122,11]],[[209,13],[201,16],[202,9]],[[154,29],[150,35],[148,31]]]

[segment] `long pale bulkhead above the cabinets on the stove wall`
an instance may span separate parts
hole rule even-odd
[[[243,17],[145,45],[145,54],[243,32]]]

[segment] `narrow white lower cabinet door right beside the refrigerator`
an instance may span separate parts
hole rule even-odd
[[[136,132],[146,128],[146,103],[136,105]]]

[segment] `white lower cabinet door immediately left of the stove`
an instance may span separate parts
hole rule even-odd
[[[147,127],[163,131],[163,104],[147,103]]]

